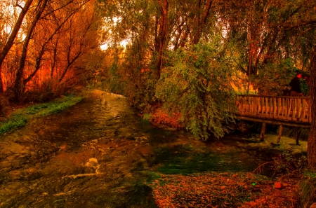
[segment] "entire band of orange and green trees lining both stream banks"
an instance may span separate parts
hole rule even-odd
[[[307,0],[0,6],[0,92],[22,102],[87,79],[126,95],[142,113],[180,113],[179,122],[203,139],[228,130],[236,93],[252,86],[282,95],[296,71],[308,74],[315,46],[316,3]]]

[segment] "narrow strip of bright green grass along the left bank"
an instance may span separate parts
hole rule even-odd
[[[41,116],[48,116],[53,113],[58,113],[67,109],[79,102],[82,97],[76,97],[74,95],[65,95],[61,98],[55,99],[52,102],[47,102],[44,104],[34,104],[32,106],[27,106],[23,109],[18,109],[13,112],[8,119],[0,122],[0,135],[15,130],[19,127],[25,126],[27,120],[31,118],[38,118]]]

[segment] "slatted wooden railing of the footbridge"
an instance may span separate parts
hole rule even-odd
[[[237,115],[310,123],[310,97],[237,95]]]

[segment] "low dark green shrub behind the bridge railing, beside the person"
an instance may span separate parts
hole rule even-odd
[[[291,58],[276,60],[265,64],[258,75],[251,76],[251,82],[261,95],[283,95],[292,78],[296,76],[296,67]]]

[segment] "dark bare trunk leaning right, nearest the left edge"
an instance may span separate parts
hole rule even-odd
[[[18,32],[20,30],[20,27],[22,25],[23,19],[24,19],[25,15],[26,15],[27,11],[29,10],[29,6],[31,6],[31,4],[32,4],[32,1],[33,0],[28,0],[25,3],[24,8],[19,6],[20,8],[22,8],[21,12],[20,12],[20,15],[19,15],[19,18],[18,18],[17,22],[15,23],[15,25],[13,27],[11,35],[8,38],[8,41],[6,42],[6,46],[4,46],[4,48],[0,52],[0,92],[4,92],[4,86],[3,86],[2,78],[1,78],[1,66],[2,66],[2,63],[4,62],[4,58],[6,57],[6,55],[8,54],[9,50],[11,49],[11,47],[12,47],[12,45],[14,43],[15,37],[16,37],[16,35],[18,34]]]

